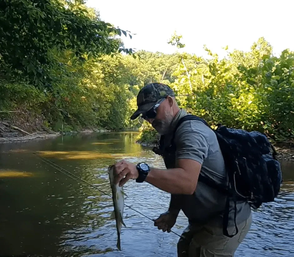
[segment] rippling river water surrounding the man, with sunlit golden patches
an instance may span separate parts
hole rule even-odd
[[[46,158],[111,194],[107,167],[119,159],[164,168],[136,132],[67,135],[0,144],[0,256],[176,256],[179,237],[124,208],[121,247],[116,249],[112,199],[41,161]],[[282,163],[276,202],[253,211],[253,223],[235,256],[294,256],[294,164]],[[148,183],[129,181],[125,204],[157,218],[170,195]],[[180,212],[172,229],[187,226]]]

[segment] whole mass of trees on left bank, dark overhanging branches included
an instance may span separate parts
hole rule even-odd
[[[134,94],[121,52],[131,58],[134,52],[117,35],[126,31],[100,21],[81,0],[3,1],[2,7],[3,115],[12,118],[7,110],[22,106],[55,130],[125,127]]]

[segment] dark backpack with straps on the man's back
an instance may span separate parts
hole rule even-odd
[[[177,123],[175,131],[186,120],[198,120],[210,126],[195,115],[185,115]],[[199,180],[227,195],[223,216],[223,233],[228,237],[238,234],[236,224],[236,201],[247,201],[257,209],[262,203],[272,202],[278,195],[282,183],[281,165],[276,159],[276,151],[265,134],[257,131],[227,128],[219,125],[212,129],[216,135],[228,173],[229,185],[225,188],[200,172]],[[160,138],[162,144],[163,136]],[[172,145],[174,145],[172,139]],[[160,147],[160,145],[159,145]],[[229,235],[230,200],[234,201],[234,222],[236,234]]]

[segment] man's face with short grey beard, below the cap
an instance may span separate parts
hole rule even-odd
[[[174,113],[169,104],[169,100],[169,98],[165,98],[165,100],[156,108],[155,118],[145,118],[160,135],[169,132],[170,123],[174,118]]]

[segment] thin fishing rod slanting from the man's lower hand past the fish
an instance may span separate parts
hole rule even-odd
[[[49,160],[43,158],[42,156],[40,156],[40,155],[38,155],[38,154],[36,154],[36,153],[33,153],[33,154],[35,154],[35,155],[36,155],[37,157],[39,157],[44,163],[50,165],[50,166],[53,167],[54,169],[57,169],[58,171],[62,172],[63,174],[68,175],[69,177],[71,177],[72,179],[75,179],[76,181],[82,181],[82,182],[84,182],[85,184],[87,184],[87,185],[93,187],[94,189],[97,189],[97,190],[100,191],[101,193],[106,194],[106,195],[108,195],[109,197],[112,198],[112,196],[111,196],[110,194],[105,193],[103,190],[101,190],[101,189],[99,189],[98,187],[96,187],[96,186],[94,186],[94,185],[88,183],[88,182],[85,181],[84,179],[79,178],[78,176],[76,176],[75,174],[69,172],[68,170],[63,169],[62,167],[58,166],[57,164],[53,163],[52,161],[49,161]],[[149,217],[146,216],[145,214],[139,212],[138,210],[135,210],[134,208],[132,208],[131,206],[129,206],[129,205],[127,205],[127,204],[124,204],[124,205],[125,205],[126,207],[132,209],[133,211],[135,211],[135,212],[141,214],[141,215],[144,216],[145,218],[150,219],[150,220],[152,220],[152,221],[154,222],[154,219],[149,218]],[[174,231],[172,231],[172,230],[170,230],[170,232],[172,232],[172,233],[174,233],[175,235],[181,237],[181,235],[179,235],[178,233],[176,233],[176,232],[174,232]]]

